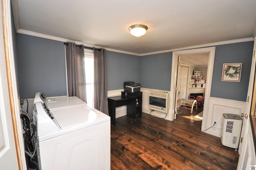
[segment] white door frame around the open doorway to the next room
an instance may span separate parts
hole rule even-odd
[[[176,81],[177,81],[177,69],[178,69],[178,56],[185,54],[199,54],[199,53],[209,53],[209,62],[207,68],[207,76],[206,76],[206,90],[204,96],[204,114],[202,120],[201,130],[206,130],[207,120],[208,120],[208,109],[210,102],[210,92],[212,87],[212,74],[213,74],[213,66],[214,66],[214,57],[215,57],[215,47],[207,47],[207,48],[196,48],[191,50],[182,50],[182,51],[174,51],[172,52],[172,76],[171,76],[171,90],[170,90],[170,120],[174,120],[174,112],[175,112],[175,96],[176,96]]]

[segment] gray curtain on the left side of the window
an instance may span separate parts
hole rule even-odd
[[[72,42],[65,43],[68,77],[68,96],[77,96],[86,101],[86,80],[84,66],[84,46]]]

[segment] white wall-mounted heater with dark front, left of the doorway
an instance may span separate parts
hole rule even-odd
[[[149,106],[150,110],[155,110],[162,113],[168,113],[169,110],[169,94],[160,91],[149,92]]]

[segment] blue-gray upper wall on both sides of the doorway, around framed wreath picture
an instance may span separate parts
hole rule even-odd
[[[254,42],[216,46],[211,97],[246,101]],[[242,62],[240,82],[222,82],[224,63]],[[140,57],[140,84],[143,88],[170,90],[172,52]],[[207,83],[207,82],[206,82]]]

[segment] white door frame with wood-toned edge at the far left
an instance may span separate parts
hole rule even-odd
[[[1,0],[2,2],[2,25],[3,25],[3,48],[5,53],[5,67],[7,74],[8,86],[5,87],[8,90],[8,98],[10,102],[10,111],[12,116],[12,130],[14,135],[14,143],[16,148],[16,156],[20,170],[26,169],[25,149],[23,144],[23,131],[22,124],[20,122],[20,100],[18,97],[15,64],[14,64],[14,52],[12,42],[12,15],[11,15],[11,2],[8,0]],[[9,134],[8,134],[9,135]]]

